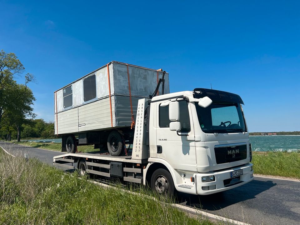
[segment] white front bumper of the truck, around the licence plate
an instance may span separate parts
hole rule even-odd
[[[253,170],[251,170],[253,164],[247,163],[242,166],[219,170],[217,172],[211,171],[207,173],[195,173],[196,192],[198,195],[208,195],[217,192],[226,191],[253,180]],[[235,170],[243,170],[243,174],[236,178],[230,178],[230,172]],[[215,181],[203,183],[201,178],[203,176],[215,176]],[[225,182],[224,182],[225,181]],[[229,183],[230,181],[230,183]]]

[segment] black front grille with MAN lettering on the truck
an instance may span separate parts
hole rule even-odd
[[[247,158],[247,145],[215,146],[217,164],[231,163]]]

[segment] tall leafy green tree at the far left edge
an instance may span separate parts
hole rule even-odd
[[[7,132],[7,139],[12,136],[12,126],[17,131],[17,140],[20,141],[22,124],[28,118],[34,118],[32,105],[35,101],[28,83],[36,82],[31,73],[25,75],[25,84],[18,84],[14,78],[24,72],[25,68],[14,53],[0,51],[0,131]],[[5,121],[2,121],[2,117]],[[2,129],[2,126],[4,128]]]

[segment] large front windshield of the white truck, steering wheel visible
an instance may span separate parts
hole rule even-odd
[[[246,132],[239,103],[213,102],[207,108],[195,105],[200,127],[204,133]]]

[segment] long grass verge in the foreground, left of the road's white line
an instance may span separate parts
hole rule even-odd
[[[0,224],[215,224],[0,150]],[[140,189],[144,194],[147,189]]]

